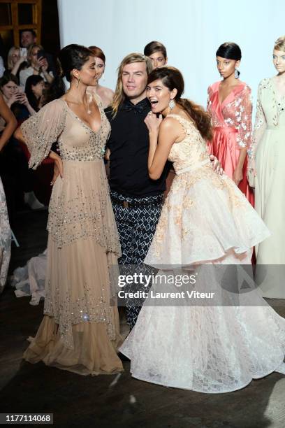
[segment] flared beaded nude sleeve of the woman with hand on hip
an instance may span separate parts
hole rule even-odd
[[[29,168],[36,169],[47,157],[52,143],[57,141],[64,129],[65,121],[64,101],[55,99],[21,125],[24,142],[31,154]]]

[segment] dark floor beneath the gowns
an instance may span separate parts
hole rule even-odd
[[[46,218],[46,212],[18,215],[14,232],[21,246],[13,247],[11,271],[45,248]],[[0,299],[1,413],[54,413],[56,427],[285,427],[285,376],[279,373],[236,392],[200,394],[133,379],[129,362],[122,375],[96,377],[23,362],[43,302],[30,306],[10,287]],[[270,304],[285,316],[284,301]]]

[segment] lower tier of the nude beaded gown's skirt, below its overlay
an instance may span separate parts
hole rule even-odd
[[[93,238],[61,249],[49,238],[46,315],[35,338],[30,338],[24,359],[31,363],[43,361],[48,366],[82,375],[122,371],[122,362],[116,352],[122,341],[117,307],[108,308],[107,304],[104,312],[100,293],[101,285],[109,286],[108,262],[115,264],[116,261],[115,256],[106,255]],[[64,269],[54,269],[54,266]],[[70,285],[76,283],[78,287],[71,289]],[[54,289],[54,284],[61,284],[61,290]],[[50,316],[57,313],[59,301],[65,299],[66,305],[59,308],[59,315]]]

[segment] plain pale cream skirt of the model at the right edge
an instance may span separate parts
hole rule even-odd
[[[271,236],[256,246],[263,297],[285,299],[285,127],[266,129],[256,152],[255,208]]]

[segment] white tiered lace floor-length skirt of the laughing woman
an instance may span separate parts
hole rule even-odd
[[[240,266],[251,269],[252,247],[268,236],[254,208],[228,177],[210,169],[175,177],[145,262],[170,269],[170,280],[181,269],[195,269],[200,280],[187,290],[214,295],[212,300],[173,297],[168,304],[145,300],[120,348],[131,359],[134,378],[218,393],[238,390],[280,368],[284,371],[285,319],[250,285]],[[159,290],[169,283],[166,280]],[[152,289],[157,288],[153,283]],[[170,290],[179,292],[180,287],[170,285]]]

